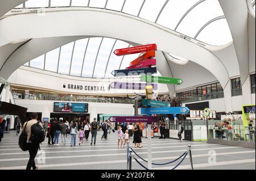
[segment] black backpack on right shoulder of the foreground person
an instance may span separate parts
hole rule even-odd
[[[44,128],[41,127],[41,125],[38,123],[33,124],[31,126],[31,136],[30,136],[30,141],[32,144],[39,145],[44,141],[44,137],[46,137],[46,133],[44,132]]]

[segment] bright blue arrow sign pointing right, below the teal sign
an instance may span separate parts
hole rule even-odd
[[[173,115],[173,114],[187,114],[189,108],[187,107],[155,107],[155,108],[141,108],[141,113],[144,114],[159,114],[159,115]]]

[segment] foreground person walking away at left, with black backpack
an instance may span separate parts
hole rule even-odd
[[[30,153],[30,159],[27,163],[26,170],[38,170],[39,167],[35,165],[35,157],[38,154],[39,144],[44,141],[45,133],[42,123],[38,121],[38,113],[33,112],[32,120],[27,121],[23,125],[23,131],[27,134],[27,149]]]

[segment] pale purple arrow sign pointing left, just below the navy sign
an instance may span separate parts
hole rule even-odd
[[[146,89],[146,83],[134,83],[134,82],[112,82],[110,83],[111,89],[127,89],[127,90],[144,90]],[[153,89],[158,90],[158,85],[153,84]]]

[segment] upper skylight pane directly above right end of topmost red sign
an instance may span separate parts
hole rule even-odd
[[[147,0],[142,7],[139,17],[155,22],[165,2],[166,0]]]

